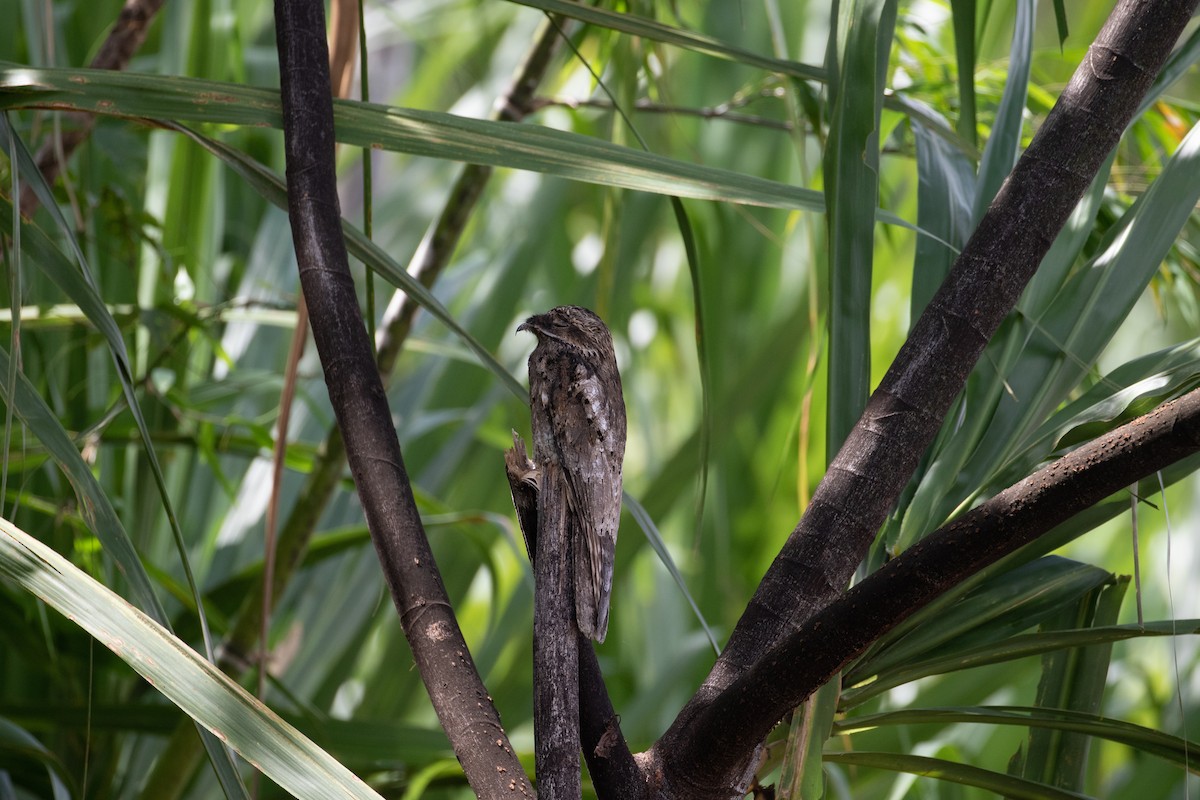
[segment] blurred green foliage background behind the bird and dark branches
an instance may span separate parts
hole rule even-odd
[[[845,14],[870,14],[876,4],[842,5]],[[830,156],[827,86],[786,77],[787,70],[823,74],[824,4],[635,2],[616,11],[641,36],[569,26],[577,55],[564,48],[556,58],[538,92],[547,102],[524,125],[611,140],[623,150],[544,139],[527,127],[468,128],[456,145],[448,128],[438,127],[452,120],[434,116],[413,137],[430,149],[409,155],[416,145],[404,144],[407,122],[370,108],[346,108],[338,118],[347,145],[383,143],[372,156],[370,203],[373,239],[395,259],[392,269],[413,257],[446,203],[462,169],[456,160],[500,167],[433,288],[470,342],[422,312],[389,386],[439,566],[522,754],[532,752],[533,741],[530,573],[500,453],[511,428],[527,429],[528,411],[470,345],[523,380],[533,342],[514,331],[529,313],[587,305],[614,332],[630,420],[625,487],[654,529],[624,519],[612,627],[600,657],[623,729],[642,750],[712,663],[701,618],[722,642],[820,479],[827,429],[844,431],[857,419],[853,396],[842,399],[836,393],[842,390],[830,387],[838,381],[828,379],[829,371],[835,378],[862,373],[871,385],[878,379],[914,309],[950,263],[953,252],[937,240],[965,241],[972,213],[977,217],[974,210],[990,197],[976,186],[995,191],[1109,11],[1070,8],[1070,35],[1060,44],[1054,8],[1042,5],[892,7],[884,83],[894,91],[877,137],[882,211],[862,193],[830,194],[833,233],[826,213],[815,210],[827,190],[823,176],[830,164],[860,168],[862,151],[848,146]],[[1027,25],[1015,25],[1014,44],[1019,6]],[[269,456],[298,299],[290,231],[269,190],[229,168],[233,156],[223,161],[178,132],[125,116],[184,122],[282,173],[277,122],[265,101],[246,89],[277,85],[274,30],[270,4],[167,4],[128,78],[96,76],[80,85],[64,73],[30,78],[20,68],[86,65],[119,7],[113,0],[0,2],[2,18],[14,20],[0,34],[0,104],[20,109],[7,119],[26,146],[49,140],[60,124],[28,109],[40,102],[73,97],[124,115],[100,121],[72,160],[66,184],[55,188],[64,219],[42,210],[36,228],[25,225],[19,236],[8,225],[5,330],[13,330],[12,309],[19,307],[20,374],[34,390],[30,397],[40,397],[49,413],[30,416],[32,407],[20,405],[10,375],[5,396],[17,398],[12,407],[26,427],[10,437],[4,516],[149,610],[138,600],[136,575],[118,569],[109,540],[95,535],[107,525],[103,535],[132,543],[164,616],[199,648],[187,576],[96,302],[107,305],[128,350],[126,390],[144,416],[208,625],[220,642],[242,603],[254,602],[247,593],[263,565]],[[974,53],[964,62],[953,34],[972,13]],[[646,18],[739,49],[715,58],[695,43],[664,43],[638,22]],[[544,19],[535,8],[480,0],[368,5],[372,100],[485,118]],[[847,48],[866,47],[846,41]],[[1195,138],[1190,64],[1198,53],[1193,36],[1177,61],[1183,78],[1164,85],[1134,124],[1111,173],[1048,257],[871,564],[884,558],[884,548],[902,549],[1057,449],[1196,385],[1200,176],[1194,173],[1200,167],[1186,136],[1192,130]],[[634,155],[636,140],[580,58],[602,76],[649,151],[665,158],[643,162]],[[770,59],[808,66],[764,66]],[[1006,80],[1026,70],[1027,96],[1018,80],[1006,104]],[[964,71],[974,77],[970,101],[959,91]],[[212,92],[179,77],[224,85]],[[847,130],[869,121],[870,101],[864,108],[846,100]],[[343,215],[361,225],[361,151],[343,146],[341,158]],[[680,162],[736,174],[689,172]],[[13,163],[0,167],[6,216]],[[667,192],[715,198],[684,200],[695,230],[692,265]],[[863,230],[871,235],[871,219],[898,218],[930,235],[918,236],[911,224],[876,222],[865,264],[829,263],[832,236],[853,241],[858,231],[860,242]],[[72,236],[94,288],[72,266]],[[47,247],[38,249],[42,240]],[[67,265],[60,264],[59,275],[67,277],[54,279],[47,264],[59,261]],[[865,271],[872,261],[874,272]],[[389,269],[378,259],[373,266]],[[354,267],[366,285],[361,264]],[[869,297],[833,306],[830,276],[845,278],[847,270],[869,282]],[[378,317],[391,287],[380,277],[374,284]],[[828,354],[830,330],[851,342],[836,363]],[[8,339],[6,351],[13,349]],[[332,425],[311,350],[300,373],[284,516],[302,495]],[[839,398],[832,413],[830,396]],[[71,468],[55,467],[62,458],[54,437],[66,441],[64,433],[83,456],[76,469],[86,475],[64,480]],[[1165,474],[1165,482],[1182,480],[1165,495],[1156,494],[1153,481],[1140,489],[1147,500],[1136,512],[1145,619],[1178,620],[1147,626],[1148,633],[1198,627],[1187,619],[1200,616],[1188,594],[1196,569],[1189,524],[1194,481],[1187,479],[1194,467]],[[95,483],[80,488],[88,475]],[[112,522],[84,499],[89,492],[107,499]],[[1184,729],[1196,697],[1196,650],[1188,637],[1133,638],[1112,646],[1111,661],[1103,632],[1073,640],[1093,645],[1074,650],[1061,649],[1054,633],[1014,638],[1039,626],[1070,631],[1136,621],[1134,591],[1115,577],[1133,571],[1129,500],[1114,498],[1102,511],[1120,516],[1103,525],[1104,513],[1064,525],[1055,543],[1096,530],[1056,558],[1031,560],[1042,553],[1028,553],[1024,565],[991,570],[990,582],[980,579],[868,654],[847,673],[836,716],[832,705],[816,711],[823,720],[817,729],[833,724],[834,735],[818,738],[823,775],[810,769],[796,778],[794,796],[822,790],[846,798],[1068,796],[1049,788],[1022,795],[1028,786],[1004,783],[1009,770],[1063,792],[1182,796],[1196,759],[1187,758],[1174,736],[1200,733],[1194,722]],[[272,619],[268,704],[384,795],[467,796],[410,667],[348,480],[314,524],[316,537]],[[685,590],[668,564],[682,573]],[[179,709],[138,678],[128,658],[97,646],[40,602],[18,572],[10,566],[0,581],[0,796],[12,796],[8,786],[17,787],[14,796],[218,796],[208,768],[191,776],[162,766],[173,732],[176,739],[194,738]],[[1034,655],[1042,655],[1039,646],[1068,655],[1008,660],[1021,644]],[[961,669],[971,657],[991,663]],[[186,694],[188,684],[181,691]],[[1116,723],[1088,718],[1086,733],[1109,736],[1088,744],[1078,732],[1075,738],[1030,733],[998,711],[978,710],[983,705],[1034,708],[1028,714],[1043,720],[1058,718],[1046,710],[1052,708],[1103,712],[1144,727],[1122,739]],[[935,706],[991,716],[980,724],[928,710]],[[799,724],[776,732],[764,782],[796,777],[791,765],[804,757],[785,756],[784,740]],[[1168,735],[1156,739],[1154,730]],[[284,754],[289,746],[282,734],[258,744]],[[1019,748],[1025,760],[1010,764]],[[1088,750],[1082,768],[1079,754]],[[785,762],[781,777],[776,770]],[[144,788],[148,780],[152,793]],[[264,786],[265,794],[275,792]]]

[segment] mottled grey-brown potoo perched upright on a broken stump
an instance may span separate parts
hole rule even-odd
[[[625,457],[625,401],[612,336],[587,308],[559,306],[535,314],[518,331],[538,347],[529,356],[534,461],[562,468],[580,631],[604,642],[620,519],[620,465]]]

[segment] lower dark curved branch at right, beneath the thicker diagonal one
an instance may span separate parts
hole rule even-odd
[[[811,615],[695,718],[678,757],[695,765],[694,780],[719,780],[785,714],[930,601],[1198,451],[1200,390],[1193,390],[1008,487]]]

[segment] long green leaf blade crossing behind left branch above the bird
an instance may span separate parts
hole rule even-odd
[[[107,70],[0,70],[0,108],[47,104],[175,122],[281,125],[278,92],[268,89]],[[334,119],[337,140],[355,148],[527,169],[676,197],[806,211],[824,209],[821,194],[812,190],[691,164],[540,125],[352,101],[335,101]]]

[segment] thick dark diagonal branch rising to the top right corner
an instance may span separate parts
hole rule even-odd
[[[1121,0],[1004,182],[946,282],[917,320],[863,417],[696,696],[650,753],[664,786],[695,788],[680,760],[696,716],[782,637],[845,589],[912,477],[988,341],[1192,17],[1196,0]],[[830,632],[835,634],[835,632]],[[745,754],[745,753],[743,753]],[[736,778],[733,778],[736,780]]]

